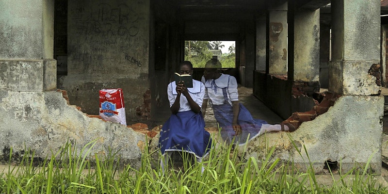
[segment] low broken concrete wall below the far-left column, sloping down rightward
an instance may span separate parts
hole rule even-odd
[[[45,159],[69,141],[76,143],[78,153],[97,139],[91,154],[118,151],[123,162],[140,166],[146,137],[126,126],[89,118],[75,106],[68,106],[61,92],[11,92],[0,90],[0,147],[7,158],[10,147],[22,154],[25,148]]]

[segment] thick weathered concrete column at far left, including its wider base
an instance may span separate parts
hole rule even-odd
[[[0,88],[56,89],[54,0],[0,2]]]

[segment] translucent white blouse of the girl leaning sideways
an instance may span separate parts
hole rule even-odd
[[[232,101],[239,100],[239,93],[237,91],[238,84],[235,77],[227,74],[221,74],[221,76],[216,80],[205,80],[202,76],[201,81],[204,83],[206,88],[204,99],[210,99],[210,105],[224,104],[225,100],[222,88],[226,88],[227,101],[230,105],[232,105]]]

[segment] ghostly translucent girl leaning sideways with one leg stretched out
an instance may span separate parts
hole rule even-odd
[[[205,65],[201,80],[206,88],[202,113],[205,115],[209,101],[221,127],[221,137],[226,142],[244,145],[265,132],[295,130],[290,123],[270,125],[264,120],[252,118],[251,113],[239,103],[236,78],[220,73],[220,69],[221,63],[217,59],[211,59]]]

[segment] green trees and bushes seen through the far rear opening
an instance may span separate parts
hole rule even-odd
[[[194,68],[204,68],[213,53],[210,50],[222,49],[225,45],[221,41],[185,41],[185,61],[191,61]],[[220,62],[223,68],[236,67],[236,49],[232,45],[229,53],[222,53]]]

